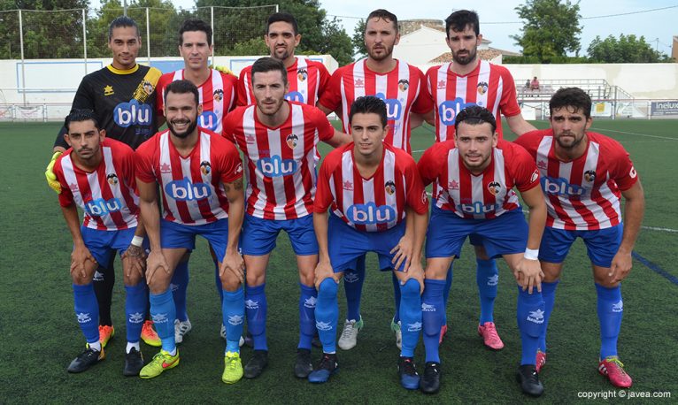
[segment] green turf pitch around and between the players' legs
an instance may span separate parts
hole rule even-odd
[[[546,122],[536,122],[545,127]],[[678,229],[678,198],[673,180],[678,174],[678,122],[596,121],[594,128],[619,140],[640,173],[647,210],[644,224]],[[516,289],[501,261],[496,321],[505,349],[490,352],[475,332],[479,304],[474,255],[465,248],[455,264],[451,302],[447,308],[450,333],[443,342],[443,388],[437,396],[406,392],[398,385],[397,348],[389,321],[392,313],[390,276],[376,271],[368,256],[368,276],[362,313],[366,327],[358,347],[339,352],[341,370],[330,384],[312,386],[297,380],[292,364],[297,345],[298,279],[286,237],[278,241],[268,269],[270,362],[256,380],[235,386],[220,382],[224,342],[219,338],[220,305],[212,262],[200,241],[191,257],[189,316],[194,325],[181,345],[181,365],[152,380],[124,378],[124,289],[118,271],[113,296],[115,338],[106,360],[91,371],[69,375],[66,365],[83,348],[73,319],[73,296],[68,274],[71,238],[57,196],[44,183],[42,172],[50,156],[58,125],[2,123],[0,137],[7,147],[0,163],[0,402],[210,402],[210,403],[461,403],[525,401],[514,380],[520,360],[515,322]],[[512,139],[512,136],[507,135]],[[412,149],[433,142],[430,128],[412,136]],[[416,158],[420,153],[414,154]],[[678,276],[678,233],[643,229],[636,252]],[[117,263],[119,266],[119,261]],[[678,396],[678,286],[650,268],[634,262],[622,287],[625,317],[620,355],[635,380],[632,391],[672,391]],[[340,289],[341,291],[341,289]],[[343,292],[339,302],[342,315]],[[341,317],[340,317],[341,319]],[[577,401],[581,391],[608,391],[597,375],[598,327],[596,293],[589,261],[581,242],[568,256],[549,329],[549,363],[543,370],[542,401]],[[156,348],[143,345],[146,360]],[[251,351],[243,349],[245,361]],[[320,356],[314,350],[313,357]],[[417,351],[423,365],[423,347]],[[235,401],[235,402],[234,402]],[[675,401],[675,400],[674,400]]]

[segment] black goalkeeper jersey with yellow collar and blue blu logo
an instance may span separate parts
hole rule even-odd
[[[155,88],[161,75],[155,67],[120,71],[108,65],[82,78],[72,108],[93,110],[106,136],[136,149],[157,132]],[[65,127],[54,146],[68,149],[64,134]]]

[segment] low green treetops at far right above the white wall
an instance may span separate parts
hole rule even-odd
[[[591,62],[608,64],[643,64],[672,62],[666,54],[653,50],[645,37],[620,34],[619,40],[609,35],[605,40],[596,36],[587,50]]]

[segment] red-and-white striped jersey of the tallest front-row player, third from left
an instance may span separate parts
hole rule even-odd
[[[316,145],[335,128],[311,105],[289,103],[289,117],[276,128],[257,118],[257,105],[228,114],[224,136],[243,151],[247,213],[265,219],[295,219],[312,213]]]

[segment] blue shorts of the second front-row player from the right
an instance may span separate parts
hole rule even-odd
[[[478,238],[491,258],[523,253],[528,246],[528,223],[520,208],[497,218],[466,219],[436,207],[428,221],[426,256],[460,257],[466,236],[472,241]]]

